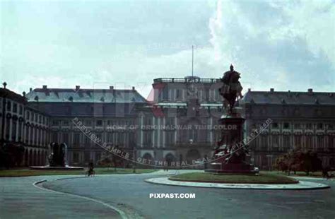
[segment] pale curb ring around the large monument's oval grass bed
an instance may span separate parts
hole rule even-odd
[[[170,180],[168,177],[155,177],[151,179],[144,179],[144,182],[173,187],[201,187],[210,189],[316,190],[330,188],[326,184],[305,181],[300,181],[298,184],[229,184],[213,182],[180,182]],[[302,184],[305,184],[305,187],[302,186]],[[314,187],[306,187],[306,184],[314,185]]]

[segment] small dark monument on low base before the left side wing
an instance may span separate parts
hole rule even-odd
[[[48,157],[50,167],[65,167],[66,145],[61,143],[50,143],[51,154]]]

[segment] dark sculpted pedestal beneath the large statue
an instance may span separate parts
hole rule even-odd
[[[221,141],[213,153],[206,172],[218,174],[256,174],[257,168],[250,162],[247,146],[243,143],[245,118],[236,111],[220,119]]]

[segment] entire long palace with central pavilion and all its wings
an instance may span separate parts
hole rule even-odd
[[[30,89],[23,96],[1,88],[1,141],[25,146],[23,165],[45,164],[50,142],[66,143],[69,165],[98,162],[104,149],[76,127],[76,119],[102,143],[148,160],[211,158],[221,137],[222,97],[216,78],[155,78],[153,100],[129,90]],[[249,144],[254,164],[271,170],[278,155],[295,147],[316,151],[335,165],[335,93],[247,90],[238,104],[245,136],[271,119]]]

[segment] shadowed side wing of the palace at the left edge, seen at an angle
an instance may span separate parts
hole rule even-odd
[[[24,95],[6,89],[6,83],[0,88],[1,145],[24,146],[21,165],[45,165],[50,117],[30,107]]]

